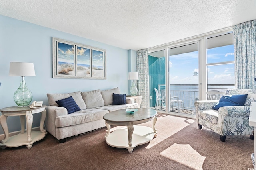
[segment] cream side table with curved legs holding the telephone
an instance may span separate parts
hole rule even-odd
[[[44,120],[46,118],[46,105],[30,109],[29,107],[6,107],[0,109],[2,115],[0,116],[0,124],[4,130],[4,140],[1,141],[1,149],[6,147],[19,147],[26,145],[27,148],[31,148],[33,143],[43,139],[47,132],[44,130]],[[40,131],[31,131],[33,123],[33,114],[42,113],[40,120]],[[9,131],[7,126],[8,116],[20,116],[21,131],[20,134],[9,137]],[[26,119],[26,132],[25,132],[25,119]]]

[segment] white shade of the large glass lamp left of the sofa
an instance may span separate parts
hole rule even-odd
[[[24,62],[10,62],[9,76],[36,76],[34,64]]]

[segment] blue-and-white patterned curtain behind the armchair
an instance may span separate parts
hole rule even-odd
[[[256,20],[233,27],[236,88],[256,89]]]

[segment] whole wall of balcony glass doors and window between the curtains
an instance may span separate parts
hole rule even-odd
[[[196,100],[234,88],[232,37],[228,28],[149,49],[150,108],[195,117]]]

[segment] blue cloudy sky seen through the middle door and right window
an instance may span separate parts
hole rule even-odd
[[[234,61],[234,45],[207,50],[207,62]],[[208,84],[234,84],[234,64],[208,66]],[[198,84],[198,51],[169,56],[170,84]]]

